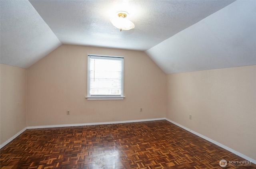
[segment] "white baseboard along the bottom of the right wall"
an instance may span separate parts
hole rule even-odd
[[[171,122],[172,124],[175,124],[176,126],[179,126],[180,128],[183,128],[183,129],[187,130],[188,132],[191,132],[191,133],[195,134],[196,136],[199,136],[200,138],[203,138],[203,139],[205,139],[207,141],[210,141],[211,143],[214,143],[215,145],[218,145],[218,146],[220,146],[220,147],[230,151],[231,153],[234,153],[234,154],[236,154],[236,155],[246,159],[247,161],[251,161],[252,163],[256,164],[256,160],[255,159],[252,159],[252,158],[250,158],[250,157],[248,157],[248,156],[246,156],[246,155],[244,155],[242,153],[239,153],[238,151],[236,151],[234,149],[231,149],[231,148],[227,147],[226,145],[223,145],[223,144],[221,144],[221,143],[219,143],[217,141],[214,141],[214,140],[212,140],[212,139],[210,139],[210,138],[208,138],[206,136],[203,136],[202,134],[194,132],[193,130],[190,130],[189,128],[186,128],[186,127],[184,127],[184,126],[182,126],[182,125],[180,125],[180,124],[178,124],[178,123],[176,123],[176,122],[174,122],[174,121],[172,121],[172,120],[170,120],[168,118],[165,118],[165,120],[167,120],[168,122]]]

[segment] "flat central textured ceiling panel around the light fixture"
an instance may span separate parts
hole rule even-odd
[[[40,1],[30,0],[64,44],[145,51],[232,1]],[[130,14],[135,29],[120,32],[110,23],[116,12]]]

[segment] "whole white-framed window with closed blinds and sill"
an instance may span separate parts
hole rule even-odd
[[[124,99],[124,58],[88,55],[87,99]]]

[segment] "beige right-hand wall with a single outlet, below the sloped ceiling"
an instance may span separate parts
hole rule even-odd
[[[256,65],[170,74],[166,117],[256,159],[255,86]]]

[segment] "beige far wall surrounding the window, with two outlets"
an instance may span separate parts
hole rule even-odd
[[[87,54],[124,57],[124,100],[85,98]],[[166,115],[166,75],[144,52],[62,45],[28,68],[27,73],[28,126],[140,120]],[[66,110],[70,110],[70,115]]]

